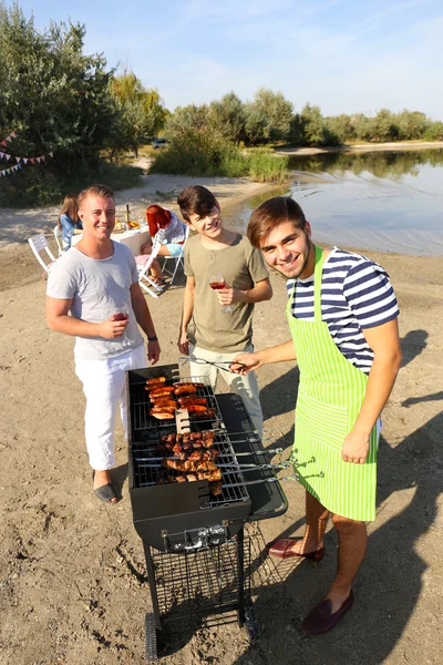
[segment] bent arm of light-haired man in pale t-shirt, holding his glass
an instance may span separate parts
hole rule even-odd
[[[47,321],[51,330],[74,335],[75,337],[104,337],[114,339],[122,337],[126,321],[114,321],[113,317],[101,324],[90,324],[73,316],[68,316],[72,305],[72,298],[59,299],[47,296]]]

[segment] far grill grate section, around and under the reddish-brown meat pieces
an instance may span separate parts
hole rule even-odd
[[[205,426],[205,428],[207,429],[209,423],[218,424],[218,422],[222,420],[222,415],[214,395],[214,390],[210,383],[206,381],[205,379],[202,379],[199,377],[194,379],[188,377],[179,378],[181,383],[204,383],[203,388],[198,389],[197,396],[204,397],[207,400],[208,408],[215,410],[215,418],[210,420],[198,420],[196,422],[198,422],[202,426]],[[163,385],[172,386],[175,382],[177,382],[176,378],[169,379]],[[154,436],[156,437],[156,430],[158,430],[159,428],[162,428],[163,430],[164,428],[171,427],[173,424],[175,426],[174,418],[171,418],[169,420],[157,420],[156,418],[153,418],[150,413],[150,406],[151,402],[148,392],[145,390],[145,382],[133,385],[131,388],[131,421],[133,429],[133,440],[137,439],[137,437],[140,438],[140,434],[142,434],[144,439],[148,439],[150,434],[152,433],[151,430],[154,430]]]

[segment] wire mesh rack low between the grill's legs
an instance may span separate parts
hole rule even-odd
[[[161,614],[197,617],[238,603],[240,579],[237,540],[196,553],[168,554],[151,549]],[[250,541],[245,539],[241,576],[250,565]],[[250,576],[245,576],[245,600],[250,597]]]

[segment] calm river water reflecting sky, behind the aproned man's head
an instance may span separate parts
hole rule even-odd
[[[290,195],[320,244],[443,256],[443,150],[293,156],[289,168],[288,185],[231,212],[238,231],[262,201]]]

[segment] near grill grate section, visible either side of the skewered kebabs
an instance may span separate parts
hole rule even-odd
[[[132,446],[132,458],[134,464],[134,487],[142,488],[152,485],[157,482],[159,478],[164,477],[162,469],[162,462],[152,461],[150,458],[158,458],[158,451],[156,446],[159,443],[158,440],[133,443]],[[235,457],[233,444],[225,431],[217,431],[214,438],[214,448],[218,450],[219,456],[215,460],[216,464],[231,464],[233,470],[222,468],[222,494],[212,497],[212,505],[220,505],[225,503],[231,503],[235,501],[248,500],[249,494],[244,487],[245,479],[238,468],[238,462]],[[173,453],[172,453],[173,454]],[[166,454],[164,457],[167,457]],[[234,487],[233,487],[234,485]],[[238,487],[235,487],[238,485]]]

